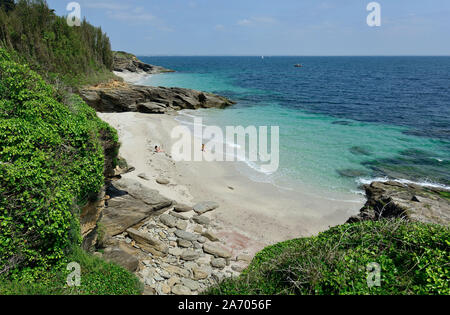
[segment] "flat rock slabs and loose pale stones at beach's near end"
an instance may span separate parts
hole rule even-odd
[[[251,260],[243,262],[239,257],[245,253],[235,252],[220,239],[215,221],[137,180],[112,181],[105,199],[100,226],[106,236],[97,246],[102,250],[94,254],[134,272],[145,294],[198,294],[238,276]],[[198,205],[209,205],[208,211],[219,206]]]

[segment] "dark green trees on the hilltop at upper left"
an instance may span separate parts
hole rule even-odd
[[[109,38],[85,20],[70,27],[44,0],[0,6],[0,45],[48,82],[68,86],[115,78]]]

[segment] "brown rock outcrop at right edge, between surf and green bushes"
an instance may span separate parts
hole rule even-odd
[[[449,190],[394,181],[373,182],[364,189],[367,202],[348,223],[380,218],[404,218],[447,226],[450,223]]]

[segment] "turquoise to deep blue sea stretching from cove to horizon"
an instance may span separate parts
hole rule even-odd
[[[313,67],[306,71],[293,68],[299,60],[293,57],[141,59],[178,71],[144,84],[216,92],[238,102],[225,110],[187,111],[182,122],[193,115],[206,125],[280,127],[278,171],[258,172],[257,163],[240,167],[254,180],[355,193],[373,179],[450,186],[450,59],[301,58]]]

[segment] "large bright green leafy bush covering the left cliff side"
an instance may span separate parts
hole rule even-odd
[[[117,134],[0,49],[0,274],[37,278],[80,243],[78,208],[104,183]]]

